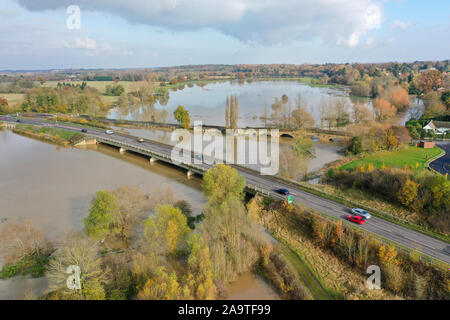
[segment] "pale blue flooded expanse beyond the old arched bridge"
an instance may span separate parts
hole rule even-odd
[[[288,106],[294,109],[295,101],[301,94],[302,100],[307,104],[307,110],[313,116],[316,126],[320,125],[321,112],[319,105],[324,102],[327,107],[331,106],[337,99],[344,99],[348,111],[354,104],[354,99],[347,96],[347,92],[341,88],[319,88],[311,87],[297,81],[253,81],[239,83],[236,81],[216,82],[209,84],[193,85],[182,90],[169,91],[167,104],[155,104],[156,110],[166,110],[168,123],[175,123],[173,112],[178,106],[184,106],[189,112],[191,123],[201,120],[207,125],[225,125],[225,105],[226,98],[236,95],[239,99],[239,120],[240,127],[265,126],[263,120],[264,111],[271,114],[271,106],[275,98],[282,95],[288,96]],[[359,103],[365,103],[371,107],[369,99],[358,98]],[[137,121],[151,121],[145,108],[115,108],[110,110],[108,117],[111,119],[125,119]]]

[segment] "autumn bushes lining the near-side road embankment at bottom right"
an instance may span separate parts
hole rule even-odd
[[[368,299],[386,298],[373,296],[368,292],[372,290],[364,288],[367,267],[370,265],[380,267],[383,290],[407,299],[450,298],[446,268],[431,266],[420,259],[417,251],[398,252],[394,246],[386,245],[368,234],[357,232],[354,228],[343,225],[342,221],[330,221],[311,213],[308,209],[264,201],[261,198],[253,201],[255,208],[258,208],[259,220],[292,246],[298,244],[296,239],[306,238],[357,272],[356,282],[354,279],[344,278],[345,284],[334,283],[337,288],[341,288],[344,298],[361,299],[366,295]],[[332,259],[326,262],[328,266],[325,270],[329,271],[324,276],[329,276],[329,272],[333,272],[332,270],[339,266],[335,265]],[[339,270],[344,272],[341,268]],[[358,290],[358,293],[355,295],[349,287]]]

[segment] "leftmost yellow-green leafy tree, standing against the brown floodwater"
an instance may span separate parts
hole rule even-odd
[[[86,233],[103,241],[111,232],[116,212],[117,204],[114,195],[106,191],[97,191],[89,209],[89,215],[84,219]]]

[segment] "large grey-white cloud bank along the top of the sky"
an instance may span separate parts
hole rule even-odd
[[[16,0],[31,11],[65,9],[73,0]],[[248,43],[319,39],[355,47],[379,28],[375,0],[78,0],[83,11],[121,16],[168,30],[215,28]]]

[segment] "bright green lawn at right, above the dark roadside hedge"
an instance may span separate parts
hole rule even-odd
[[[392,168],[403,168],[407,165],[409,168],[422,170],[426,169],[426,163],[429,159],[439,155],[441,152],[442,150],[437,147],[424,149],[409,146],[398,151],[377,152],[349,162],[340,167],[340,169],[355,169],[362,165],[367,166],[371,163],[375,168],[381,168],[383,165]]]

